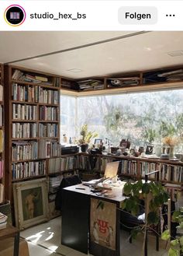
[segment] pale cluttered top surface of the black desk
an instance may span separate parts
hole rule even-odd
[[[107,196],[105,196],[105,194],[104,195],[96,195],[96,193],[91,191],[90,187],[85,186],[83,184],[77,184],[77,185],[70,186],[70,187],[67,187],[64,189],[67,191],[81,193],[84,195],[90,195],[95,198],[108,199],[109,201],[112,201],[112,202],[123,202],[126,198],[125,196],[122,195],[122,193],[119,193],[118,195],[114,195],[113,197],[107,197]]]

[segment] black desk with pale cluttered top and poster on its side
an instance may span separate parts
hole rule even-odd
[[[91,192],[91,188],[82,184],[64,188],[61,244],[85,254],[88,254],[89,249],[89,252],[95,256],[119,256],[120,211],[118,209],[120,202],[123,202],[124,199],[125,197],[123,197],[123,195],[112,198],[95,195],[95,193]],[[93,223],[91,223],[91,219],[95,218],[95,214],[91,207],[94,207],[93,204],[96,202],[102,202],[102,204],[108,205],[109,209],[115,209],[115,245],[113,248],[107,245],[105,246],[105,241],[101,244],[92,239],[93,232],[91,231],[91,225],[93,225]],[[114,209],[112,210],[113,213]],[[100,219],[98,223],[99,221]],[[105,224],[107,225],[107,222]],[[109,226],[106,227],[109,229]]]

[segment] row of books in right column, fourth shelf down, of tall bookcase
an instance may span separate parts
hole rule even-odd
[[[40,137],[57,137],[58,124],[39,124],[39,136]]]

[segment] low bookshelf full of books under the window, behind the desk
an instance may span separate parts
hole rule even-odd
[[[91,155],[78,153],[78,170],[81,175],[87,174],[89,171],[102,176],[106,163],[120,161],[118,175],[122,179],[137,181],[144,179],[145,174],[159,170],[160,181],[171,195],[171,199],[175,200],[183,195],[183,162],[181,161],[114,155],[95,155],[94,157],[95,166],[91,167]],[[151,175],[149,179],[154,181],[155,175]]]

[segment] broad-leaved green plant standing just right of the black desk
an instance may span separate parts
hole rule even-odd
[[[167,202],[169,196],[164,190],[164,187],[160,183],[154,181],[149,183],[143,183],[142,181],[137,181],[134,184],[126,183],[124,186],[124,193],[128,198],[123,201],[121,205],[122,210],[126,210],[133,216],[137,216],[140,213],[142,199],[145,203],[144,209],[147,209],[147,212],[145,210],[144,223],[135,226],[131,232],[131,235],[134,238],[138,233],[144,233],[144,250],[147,230],[154,230],[154,225],[159,223],[159,209],[165,202]],[[148,204],[148,207],[146,204]]]

